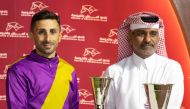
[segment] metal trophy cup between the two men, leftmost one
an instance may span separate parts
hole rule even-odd
[[[95,109],[104,109],[104,101],[108,93],[111,78],[91,77],[91,82],[94,94]]]

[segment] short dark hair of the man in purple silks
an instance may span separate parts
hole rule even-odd
[[[59,25],[60,23],[60,17],[56,15],[54,12],[49,10],[41,10],[38,13],[34,14],[32,17],[31,23],[30,23],[30,31],[33,31],[35,23],[39,20],[43,19],[55,19]]]

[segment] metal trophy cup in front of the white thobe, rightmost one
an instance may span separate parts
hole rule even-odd
[[[147,109],[167,109],[173,84],[144,84]]]

